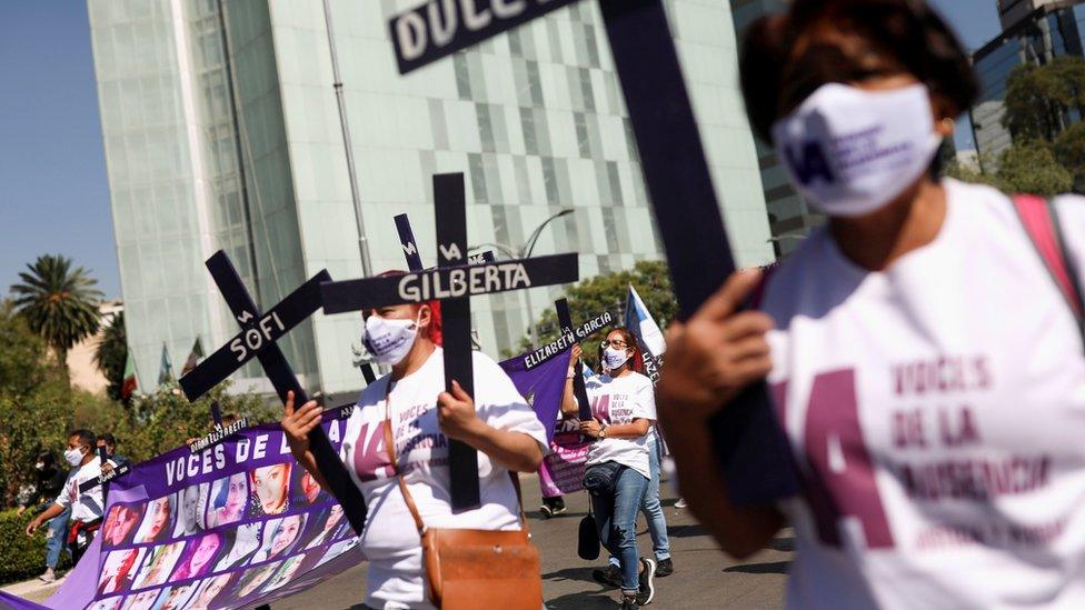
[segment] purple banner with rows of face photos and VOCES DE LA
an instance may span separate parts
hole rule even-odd
[[[336,447],[350,409],[325,413]],[[112,481],[98,538],[46,607],[255,608],[362,560],[341,508],[266,423]]]

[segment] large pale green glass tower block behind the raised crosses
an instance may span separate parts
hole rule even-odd
[[[226,250],[270,308],[321,269],[362,274],[328,20],[320,1],[89,0],[130,348],[142,388],[163,343],[237,332],[203,268]],[[536,254],[580,253],[581,278],[661,257],[596,2],[555,11],[402,77],[387,22],[417,0],[331,0],[350,150],[372,268],[402,269],[406,212],[436,260],[430,177],[465,172],[470,241],[519,247],[551,214]],[[667,2],[709,164],[740,264],[773,260],[726,3]],[[558,287],[472,301],[499,356]],[[283,349],[308,388],[349,392],[360,316],[316,314]],[[259,369],[238,388],[268,391]]]

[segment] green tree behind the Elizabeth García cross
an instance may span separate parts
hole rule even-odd
[[[648,308],[648,311],[660,326],[666,324],[675,317],[678,311],[678,302],[675,300],[667,263],[639,261],[633,270],[596,276],[570,288],[566,292],[566,298],[569,300],[569,313],[573,316],[573,322],[581,323],[609,311],[614,316],[615,324],[620,326],[625,314],[629,284],[637,289],[640,298],[645,301],[645,307]],[[557,312],[554,308],[542,312],[536,322],[536,329],[539,333],[539,346],[558,338]],[[590,346],[591,343],[588,342],[587,344]],[[530,339],[524,337],[520,340],[519,349],[515,352],[506,350],[505,356],[510,358],[531,349],[531,347]],[[596,350],[585,349],[584,356],[594,362]]]

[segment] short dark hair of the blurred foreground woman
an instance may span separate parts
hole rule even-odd
[[[979,93],[968,54],[926,0],[794,0],[787,12],[765,16],[749,26],[739,59],[746,113],[766,142],[773,141],[773,123],[783,110],[795,43],[825,23],[877,44],[932,93],[948,101],[955,114],[967,110]]]

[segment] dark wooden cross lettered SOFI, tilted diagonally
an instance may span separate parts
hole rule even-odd
[[[197,400],[246,362],[257,358],[280,400],[286,402],[287,392],[292,391],[295,404],[308,402],[305,389],[298,383],[293,369],[276,341],[320,309],[320,283],[331,280],[328,271],[320,271],[267,313],[260,313],[226,252],[219,250],[207,259],[207,269],[233,317],[241,324],[241,332],[181,377],[185,396],[190,401]],[[323,428],[318,426],[309,432],[309,448],[317,467],[328,481],[328,491],[342,504],[351,527],[360,534],[366,523],[366,501],[358,486],[350,479],[347,467],[339,459],[339,453],[331,446]]]

